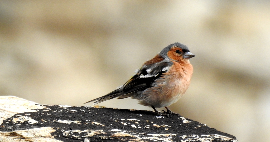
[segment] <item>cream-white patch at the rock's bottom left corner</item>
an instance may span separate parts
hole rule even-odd
[[[50,142],[63,142],[54,139],[51,135],[55,130],[52,127],[41,127],[27,130],[17,130],[10,132],[0,131],[0,140],[12,141],[12,142],[23,142],[23,141],[50,141]]]

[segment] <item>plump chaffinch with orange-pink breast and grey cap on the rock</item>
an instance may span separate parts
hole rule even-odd
[[[179,42],[170,44],[146,61],[124,85],[86,103],[95,105],[113,98],[131,97],[141,105],[151,106],[156,115],[171,115],[173,112],[168,106],[178,101],[190,85],[193,66],[189,59],[194,56],[187,46]],[[167,111],[161,113],[156,109],[163,107]]]

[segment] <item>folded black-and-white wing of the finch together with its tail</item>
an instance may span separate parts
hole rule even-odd
[[[143,91],[146,88],[149,88],[157,78],[162,76],[164,72],[167,72],[172,64],[173,63],[171,61],[161,61],[148,65],[144,64],[143,67],[140,68],[140,70],[138,70],[137,73],[123,86],[120,86],[118,89],[108,93],[105,96],[93,99],[88,102],[95,101],[93,104],[97,104],[122,95]]]

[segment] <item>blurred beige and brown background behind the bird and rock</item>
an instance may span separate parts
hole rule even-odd
[[[270,141],[269,6],[221,0],[0,1],[0,94],[82,106],[181,42],[196,55],[190,59],[194,73],[187,93],[169,108],[241,142]],[[129,98],[98,105],[152,110]]]

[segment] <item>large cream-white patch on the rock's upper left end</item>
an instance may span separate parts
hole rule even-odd
[[[16,113],[36,112],[34,109],[46,109],[38,103],[27,101],[15,96],[0,96],[0,124],[3,120],[14,116]]]

